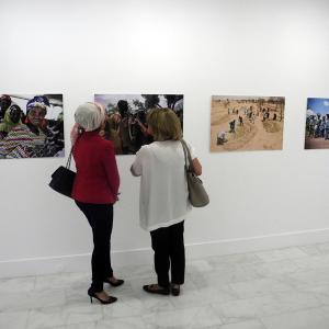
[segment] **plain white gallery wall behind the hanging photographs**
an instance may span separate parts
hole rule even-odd
[[[328,150],[304,150],[307,97],[329,97],[326,0],[1,0],[0,93],[63,93],[66,147],[93,93],[183,93],[211,205],[188,256],[329,239]],[[281,151],[209,152],[211,95],[286,98]],[[114,266],[151,261],[134,157],[118,157]],[[0,276],[89,269],[91,231],[48,186],[64,159],[0,160]]]

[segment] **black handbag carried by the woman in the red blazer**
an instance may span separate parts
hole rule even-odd
[[[49,186],[54,191],[56,191],[60,194],[64,194],[68,197],[71,197],[73,182],[75,182],[75,178],[77,174],[75,171],[70,170],[72,150],[73,150],[73,147],[71,148],[70,155],[67,159],[66,167],[60,166],[59,168],[57,168],[53,172],[52,180],[49,182]]]

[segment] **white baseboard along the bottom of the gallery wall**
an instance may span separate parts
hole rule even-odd
[[[306,246],[327,241],[329,241],[329,228],[186,243],[186,260],[292,246]],[[90,271],[90,253],[83,253],[1,261],[0,277]],[[143,248],[113,251],[112,262],[115,268],[147,264],[152,262],[152,250],[150,248]]]

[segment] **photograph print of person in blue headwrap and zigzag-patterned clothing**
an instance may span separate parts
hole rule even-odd
[[[64,157],[61,94],[0,94],[0,159]]]

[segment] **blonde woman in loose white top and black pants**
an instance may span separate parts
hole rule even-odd
[[[182,129],[178,116],[169,109],[151,110],[146,122],[154,143],[137,151],[131,168],[133,175],[141,177],[139,220],[141,228],[150,231],[158,277],[156,284],[145,285],[144,290],[161,295],[171,291],[178,296],[185,275],[184,219],[192,208],[180,141]],[[193,148],[189,148],[192,166],[200,175],[201,163]]]

